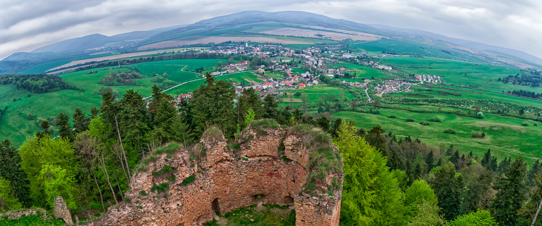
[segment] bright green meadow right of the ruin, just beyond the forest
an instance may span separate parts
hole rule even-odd
[[[435,108],[437,107],[429,107]],[[395,115],[397,118],[389,118]],[[356,127],[370,129],[375,125],[382,125],[388,131],[397,134],[398,139],[404,136],[419,137],[423,142],[438,145],[446,143],[448,146],[461,148],[461,152],[472,151],[474,155],[482,156],[483,152],[491,148],[499,159],[519,155],[527,157],[528,163],[533,163],[542,152],[539,137],[542,127],[533,126],[530,122],[527,127],[521,125],[525,120],[513,117],[485,114],[483,119],[462,117],[443,113],[417,113],[406,110],[380,109],[379,115],[360,112],[340,111],[333,114],[335,117],[356,121]],[[437,116],[442,122],[429,122],[429,125],[419,124],[428,122],[430,117]],[[406,122],[407,118],[415,122]],[[443,131],[453,128],[456,134],[445,134]],[[471,138],[470,132],[483,131],[485,138]]]

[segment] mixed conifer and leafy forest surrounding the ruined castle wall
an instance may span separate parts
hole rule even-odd
[[[55,127],[43,120],[42,130],[18,149],[3,141],[2,209],[50,210],[60,195],[72,214],[93,220],[112,205],[131,202],[124,192],[132,175],[156,161],[158,151],[169,151],[164,144],[182,147],[197,160],[205,153],[198,140],[209,128],[223,131],[233,144],[239,131],[263,118],[289,127],[309,124],[333,139],[344,159],[341,225],[527,225],[540,207],[540,163],[528,167],[522,156],[497,159],[491,150],[473,156],[451,144],[434,147],[418,138],[399,138],[378,125],[356,129],[353,121],[281,109],[273,96],[260,99],[254,89],[244,90],[234,105],[231,83],[210,74],[180,103],[161,91],[152,87],[147,108],[138,92],[128,90],[117,98],[104,90],[101,107],[89,114],[82,109],[72,116],[60,113]],[[342,95],[321,101],[347,102]],[[55,132],[60,137],[53,139]]]

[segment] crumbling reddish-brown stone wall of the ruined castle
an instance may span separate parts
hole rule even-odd
[[[237,149],[228,149],[222,135],[202,137],[207,156],[199,162],[191,161],[185,150],[158,155],[147,171],[134,174],[125,194],[131,202],[109,208],[99,221],[87,225],[201,225],[212,220],[212,211],[225,214],[260,202],[295,204],[298,225],[338,226],[340,191],[327,199],[299,195],[310,150],[286,129],[268,129],[264,135],[259,131],[243,132]],[[285,145],[282,152],[281,143]],[[169,174],[152,175],[166,165],[174,169],[175,182],[167,180]],[[191,175],[196,180],[183,186]],[[165,192],[151,191],[153,185],[165,182],[169,182]]]

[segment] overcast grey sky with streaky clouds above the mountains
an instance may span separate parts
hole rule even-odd
[[[0,59],[69,38],[191,24],[245,10],[307,11],[425,30],[542,58],[539,0],[0,0]]]

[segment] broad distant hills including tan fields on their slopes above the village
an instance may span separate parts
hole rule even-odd
[[[338,44],[349,40],[349,44],[356,44],[377,39],[393,39],[398,42],[389,49],[382,50],[395,54],[440,56],[504,67],[542,69],[542,59],[525,52],[427,31],[362,24],[301,11],[243,11],[189,25],[133,31],[114,36],[93,34],[67,39],[31,52],[17,52],[2,59],[0,74],[43,73],[53,68],[74,65],[69,64],[70,62],[91,62],[99,57],[112,60],[115,58],[113,55],[117,54],[198,44],[211,46],[212,43],[227,41],[311,45]],[[412,50],[412,46],[415,46],[416,51]],[[428,50],[420,51],[417,46]]]

